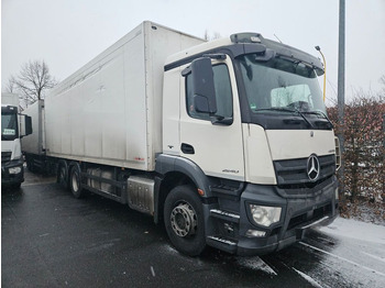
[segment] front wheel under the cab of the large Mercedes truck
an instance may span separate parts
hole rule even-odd
[[[170,242],[179,252],[198,256],[205,250],[204,208],[191,186],[179,186],[168,193],[164,222]]]

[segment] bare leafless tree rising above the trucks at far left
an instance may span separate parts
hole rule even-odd
[[[57,81],[51,76],[46,63],[34,60],[22,65],[20,74],[10,78],[8,89],[19,92],[21,101],[28,107],[37,100],[44,99],[45,91],[56,84]]]

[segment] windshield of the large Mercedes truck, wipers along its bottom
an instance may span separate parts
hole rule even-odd
[[[306,113],[324,117],[326,108],[315,69],[300,60],[255,54],[239,58],[252,113]]]

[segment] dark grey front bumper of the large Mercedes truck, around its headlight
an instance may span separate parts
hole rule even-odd
[[[249,185],[241,198],[237,254],[261,255],[279,251],[302,240],[309,229],[330,224],[338,215],[337,187],[338,180],[334,176],[321,188],[314,189],[310,195],[289,195],[279,191],[277,187]],[[285,198],[282,195],[285,195]],[[249,203],[282,207],[279,222],[270,228],[258,226],[252,220]],[[244,236],[248,230],[265,231],[266,236]]]

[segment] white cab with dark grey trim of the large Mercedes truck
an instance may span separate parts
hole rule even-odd
[[[318,58],[257,33],[167,59],[157,165],[164,175],[206,177],[194,186],[202,190],[207,244],[270,253],[337,217],[337,148],[322,74]],[[170,208],[170,239],[195,223],[191,209]]]

